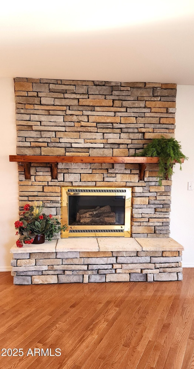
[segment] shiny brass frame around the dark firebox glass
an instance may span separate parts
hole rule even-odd
[[[125,196],[125,224],[122,225],[69,225],[68,196]],[[132,187],[61,187],[61,222],[67,224],[67,230],[61,232],[62,238],[68,237],[131,237]]]

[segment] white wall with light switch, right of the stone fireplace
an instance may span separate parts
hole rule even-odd
[[[175,137],[181,141],[182,152],[189,157],[182,165],[175,165],[172,186],[170,237],[184,246],[183,266],[194,267],[194,86],[177,86]]]

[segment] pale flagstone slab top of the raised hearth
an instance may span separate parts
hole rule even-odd
[[[173,238],[71,237],[45,241],[41,245],[14,245],[13,254],[25,252],[66,251],[181,251],[183,246]]]

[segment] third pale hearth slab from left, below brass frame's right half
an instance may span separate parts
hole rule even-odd
[[[142,247],[135,238],[99,237],[100,251],[142,251]]]

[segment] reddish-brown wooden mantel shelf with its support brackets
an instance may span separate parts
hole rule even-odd
[[[139,164],[139,180],[143,180],[146,164],[157,164],[158,157],[151,156],[47,156],[10,155],[10,162],[24,163],[25,179],[31,179],[30,163],[50,163],[52,179],[57,179],[57,163],[133,163]],[[181,159],[181,163],[184,159]],[[173,163],[177,163],[173,161]]]

